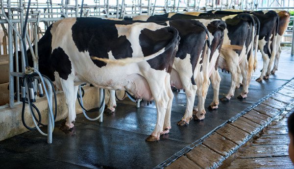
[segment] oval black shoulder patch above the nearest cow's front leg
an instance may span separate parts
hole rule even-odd
[[[72,72],[72,64],[69,56],[60,47],[52,51],[50,57],[51,68],[58,72],[60,78],[67,80]]]

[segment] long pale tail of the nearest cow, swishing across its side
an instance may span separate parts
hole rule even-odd
[[[131,64],[131,63],[138,63],[138,62],[143,62],[143,61],[153,59],[156,56],[164,53],[169,48],[171,48],[175,43],[179,42],[178,31],[175,28],[172,28],[172,27],[167,27],[167,28],[169,29],[168,31],[173,34],[171,41],[164,48],[160,49],[156,53],[153,53],[153,54],[151,54],[149,56],[145,56],[145,57],[127,57],[127,58],[117,59],[117,60],[91,56],[91,59],[92,60],[99,60],[99,61],[102,61],[102,62],[105,62],[105,63],[121,65],[121,66]],[[178,44],[176,45],[176,50],[177,50],[177,47],[178,47]]]

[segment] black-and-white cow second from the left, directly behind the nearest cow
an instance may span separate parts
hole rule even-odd
[[[147,16],[148,17],[148,16]],[[137,20],[137,19],[140,19]],[[187,106],[184,117],[177,123],[178,125],[187,125],[193,116],[193,106],[196,92],[199,96],[199,107],[202,108],[202,116],[204,117],[204,100],[209,86],[208,80],[208,61],[210,52],[210,41],[206,40],[209,37],[208,29],[199,21],[193,20],[173,20],[161,17],[160,19],[148,20],[147,22],[167,23],[176,28],[181,37],[178,52],[172,65],[171,85],[177,89],[184,89],[187,97]],[[133,21],[142,22],[147,19],[144,17],[134,17]],[[219,21],[217,26],[225,27],[224,22]],[[224,25],[223,25],[224,24]],[[207,45],[206,45],[207,43]],[[115,93],[110,92],[110,100],[115,102]],[[200,97],[201,96],[201,97]],[[110,105],[112,110],[113,106]],[[200,111],[199,111],[200,112]],[[198,115],[199,114],[199,115]],[[200,117],[201,113],[196,116]]]

